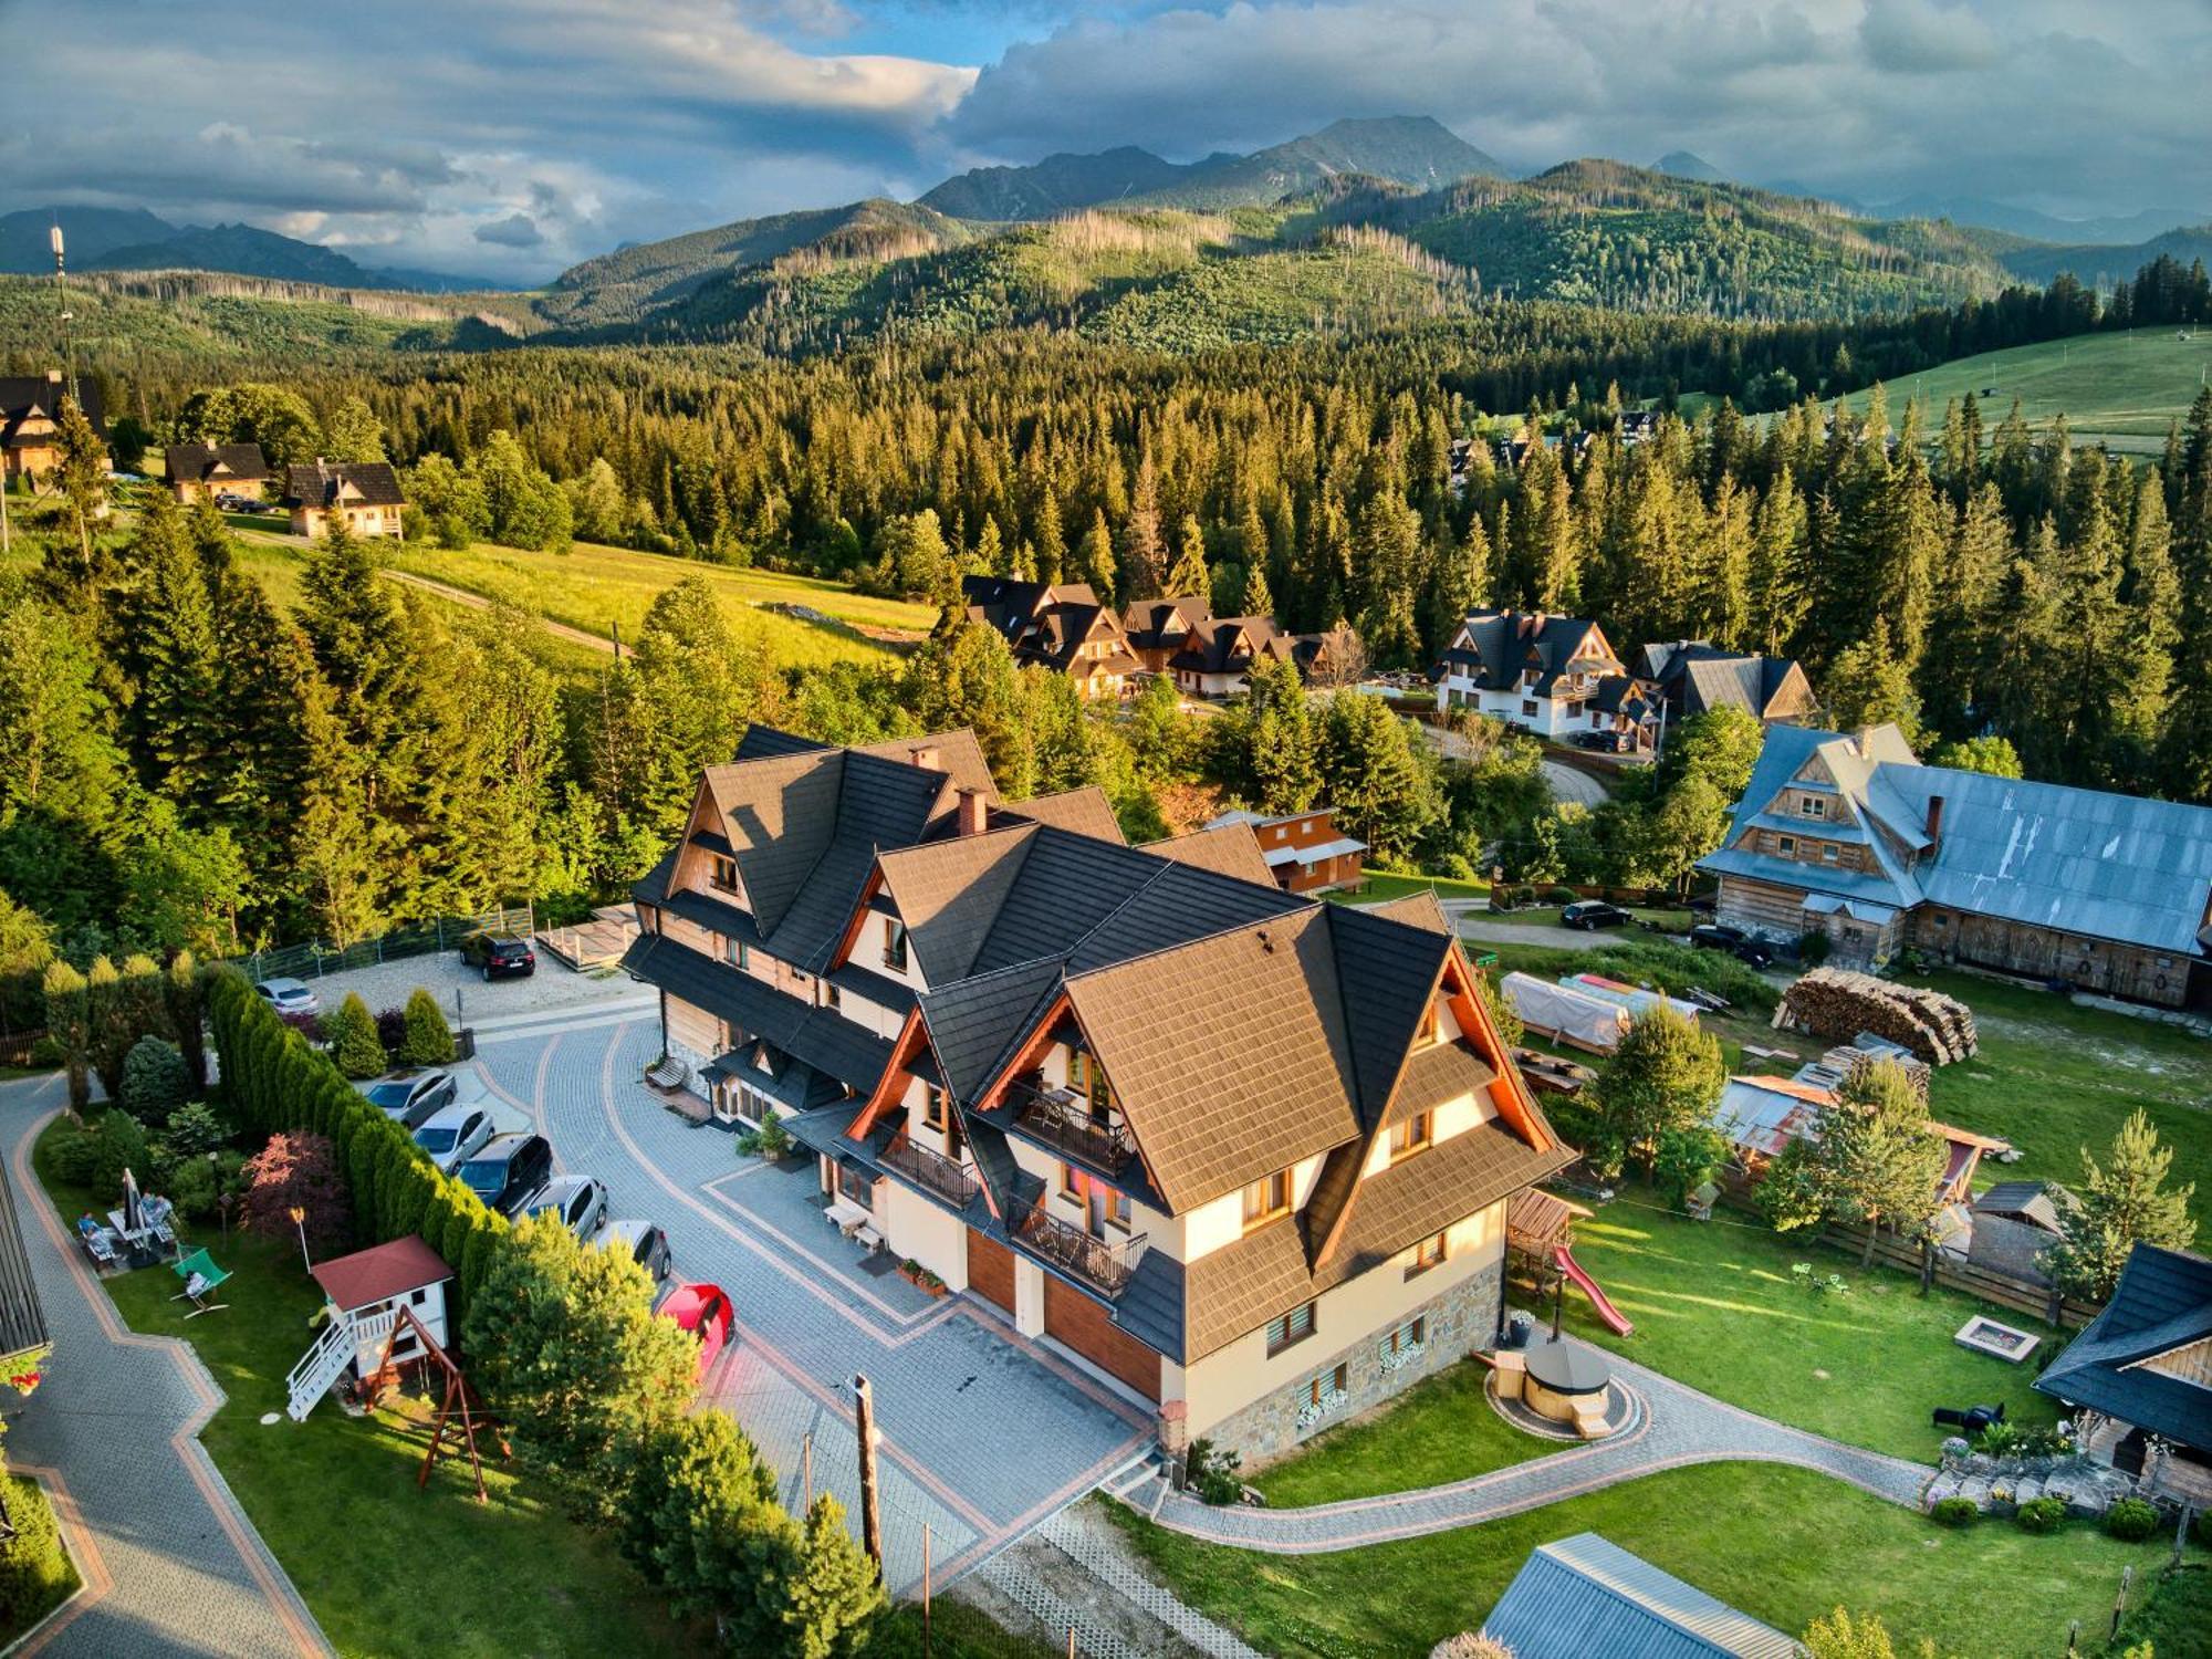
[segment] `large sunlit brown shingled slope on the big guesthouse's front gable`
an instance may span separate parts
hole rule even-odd
[[[1071,975],[1068,998],[1177,1214],[1360,1133],[1318,905]]]

